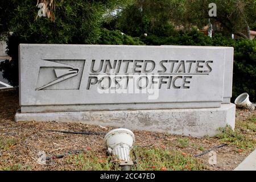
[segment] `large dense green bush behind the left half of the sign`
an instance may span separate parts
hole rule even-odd
[[[138,38],[122,36],[118,31],[102,30],[102,17],[107,7],[110,8],[118,2],[117,0],[55,1],[55,22],[48,18],[36,19],[39,10],[35,6],[36,1],[10,0],[9,4],[0,4],[0,9],[9,8],[8,27],[10,27],[9,31],[13,32],[11,35],[7,34],[7,54],[12,59],[0,63],[3,77],[11,85],[18,86],[18,45],[20,43],[142,44]],[[2,24],[7,24],[2,14],[0,20]],[[0,35],[3,35],[7,30],[0,28],[0,31],[2,31]]]

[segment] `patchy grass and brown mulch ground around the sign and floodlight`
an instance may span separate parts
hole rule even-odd
[[[1,170],[119,170],[117,160],[106,155],[104,135],[75,135],[47,130],[108,132],[112,127],[81,123],[14,122],[18,92],[0,91],[0,169]],[[256,111],[237,109],[236,129],[220,129],[216,137],[192,138],[177,135],[134,131],[134,151],[138,164],[133,170],[232,170],[256,147]],[[208,163],[209,155],[194,156],[222,143],[217,164]],[[51,158],[38,164],[38,152]]]

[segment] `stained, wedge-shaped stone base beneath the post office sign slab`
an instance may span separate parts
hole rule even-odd
[[[115,111],[72,111],[56,113],[20,113],[15,121],[79,122],[90,125],[125,127],[131,130],[158,131],[192,137],[212,137],[218,128],[235,126],[236,105],[220,108],[154,109]]]

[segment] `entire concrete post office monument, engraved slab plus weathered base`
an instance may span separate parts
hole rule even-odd
[[[16,121],[193,137],[234,128],[233,48],[20,44]]]

